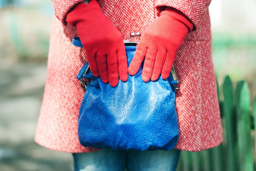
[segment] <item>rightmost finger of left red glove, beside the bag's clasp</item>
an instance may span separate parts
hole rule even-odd
[[[126,50],[123,46],[122,49],[117,51],[117,61],[118,61],[118,73],[122,81],[127,81],[128,79],[128,64],[126,57]]]

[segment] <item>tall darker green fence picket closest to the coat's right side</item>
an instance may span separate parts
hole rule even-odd
[[[235,129],[235,114],[234,114],[234,101],[233,101],[233,83],[229,76],[225,77],[223,83],[223,115],[225,118],[225,130],[227,140],[227,163],[226,169],[229,171],[237,171],[235,144],[236,144],[236,129]]]

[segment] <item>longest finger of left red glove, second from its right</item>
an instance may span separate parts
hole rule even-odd
[[[117,65],[117,53],[107,55],[107,71],[109,83],[112,87],[118,84],[118,65]]]

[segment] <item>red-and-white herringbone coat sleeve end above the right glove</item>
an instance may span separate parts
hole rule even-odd
[[[166,6],[172,7],[185,14],[197,29],[198,23],[206,13],[211,0],[156,0],[155,8],[160,14]]]

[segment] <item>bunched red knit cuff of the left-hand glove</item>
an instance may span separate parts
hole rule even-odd
[[[102,13],[100,5],[96,0],[90,0],[89,4],[80,2],[68,12],[66,16],[66,21],[75,27],[76,23],[84,18],[84,14],[91,10],[98,10],[98,12]]]

